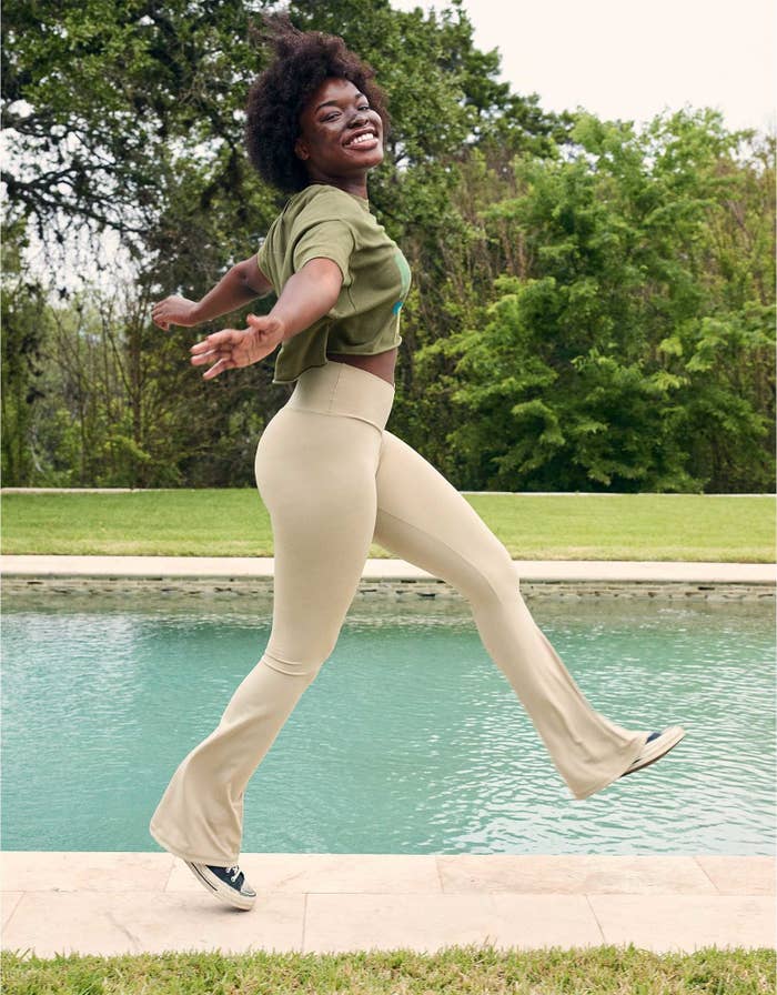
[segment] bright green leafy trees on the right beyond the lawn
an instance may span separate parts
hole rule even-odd
[[[582,115],[573,154],[516,158],[481,212],[496,300],[418,358],[453,363],[461,485],[770,489],[774,171],[747,138]]]

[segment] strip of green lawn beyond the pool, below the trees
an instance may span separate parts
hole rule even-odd
[[[514,560],[775,559],[775,498],[465,494]],[[256,491],[4,494],[7,554],[272,556]],[[373,544],[371,556],[391,556]]]

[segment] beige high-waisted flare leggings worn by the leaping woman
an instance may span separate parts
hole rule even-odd
[[[151,820],[154,840],[183,860],[238,863],[246,784],[334,650],[373,540],[467,599],[483,645],[576,798],[619,777],[647,738],[592,708],[529,615],[507,550],[434,466],[385,430],[393,400],[380,376],[329,362],[302,374],[262,434],[272,632]]]

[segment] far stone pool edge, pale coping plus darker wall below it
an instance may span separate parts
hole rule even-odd
[[[674,602],[774,602],[774,563],[612,560],[514,560],[527,601],[669,599]],[[0,556],[2,591],[31,594],[272,595],[272,556]],[[370,557],[357,601],[461,600],[451,584],[404,560]]]

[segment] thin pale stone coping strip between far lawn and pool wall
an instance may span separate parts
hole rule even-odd
[[[774,563],[693,563],[618,560],[514,560],[525,581],[658,581],[775,584]],[[6,576],[268,577],[272,556],[0,556]],[[363,580],[430,580],[405,560],[369,559]]]

